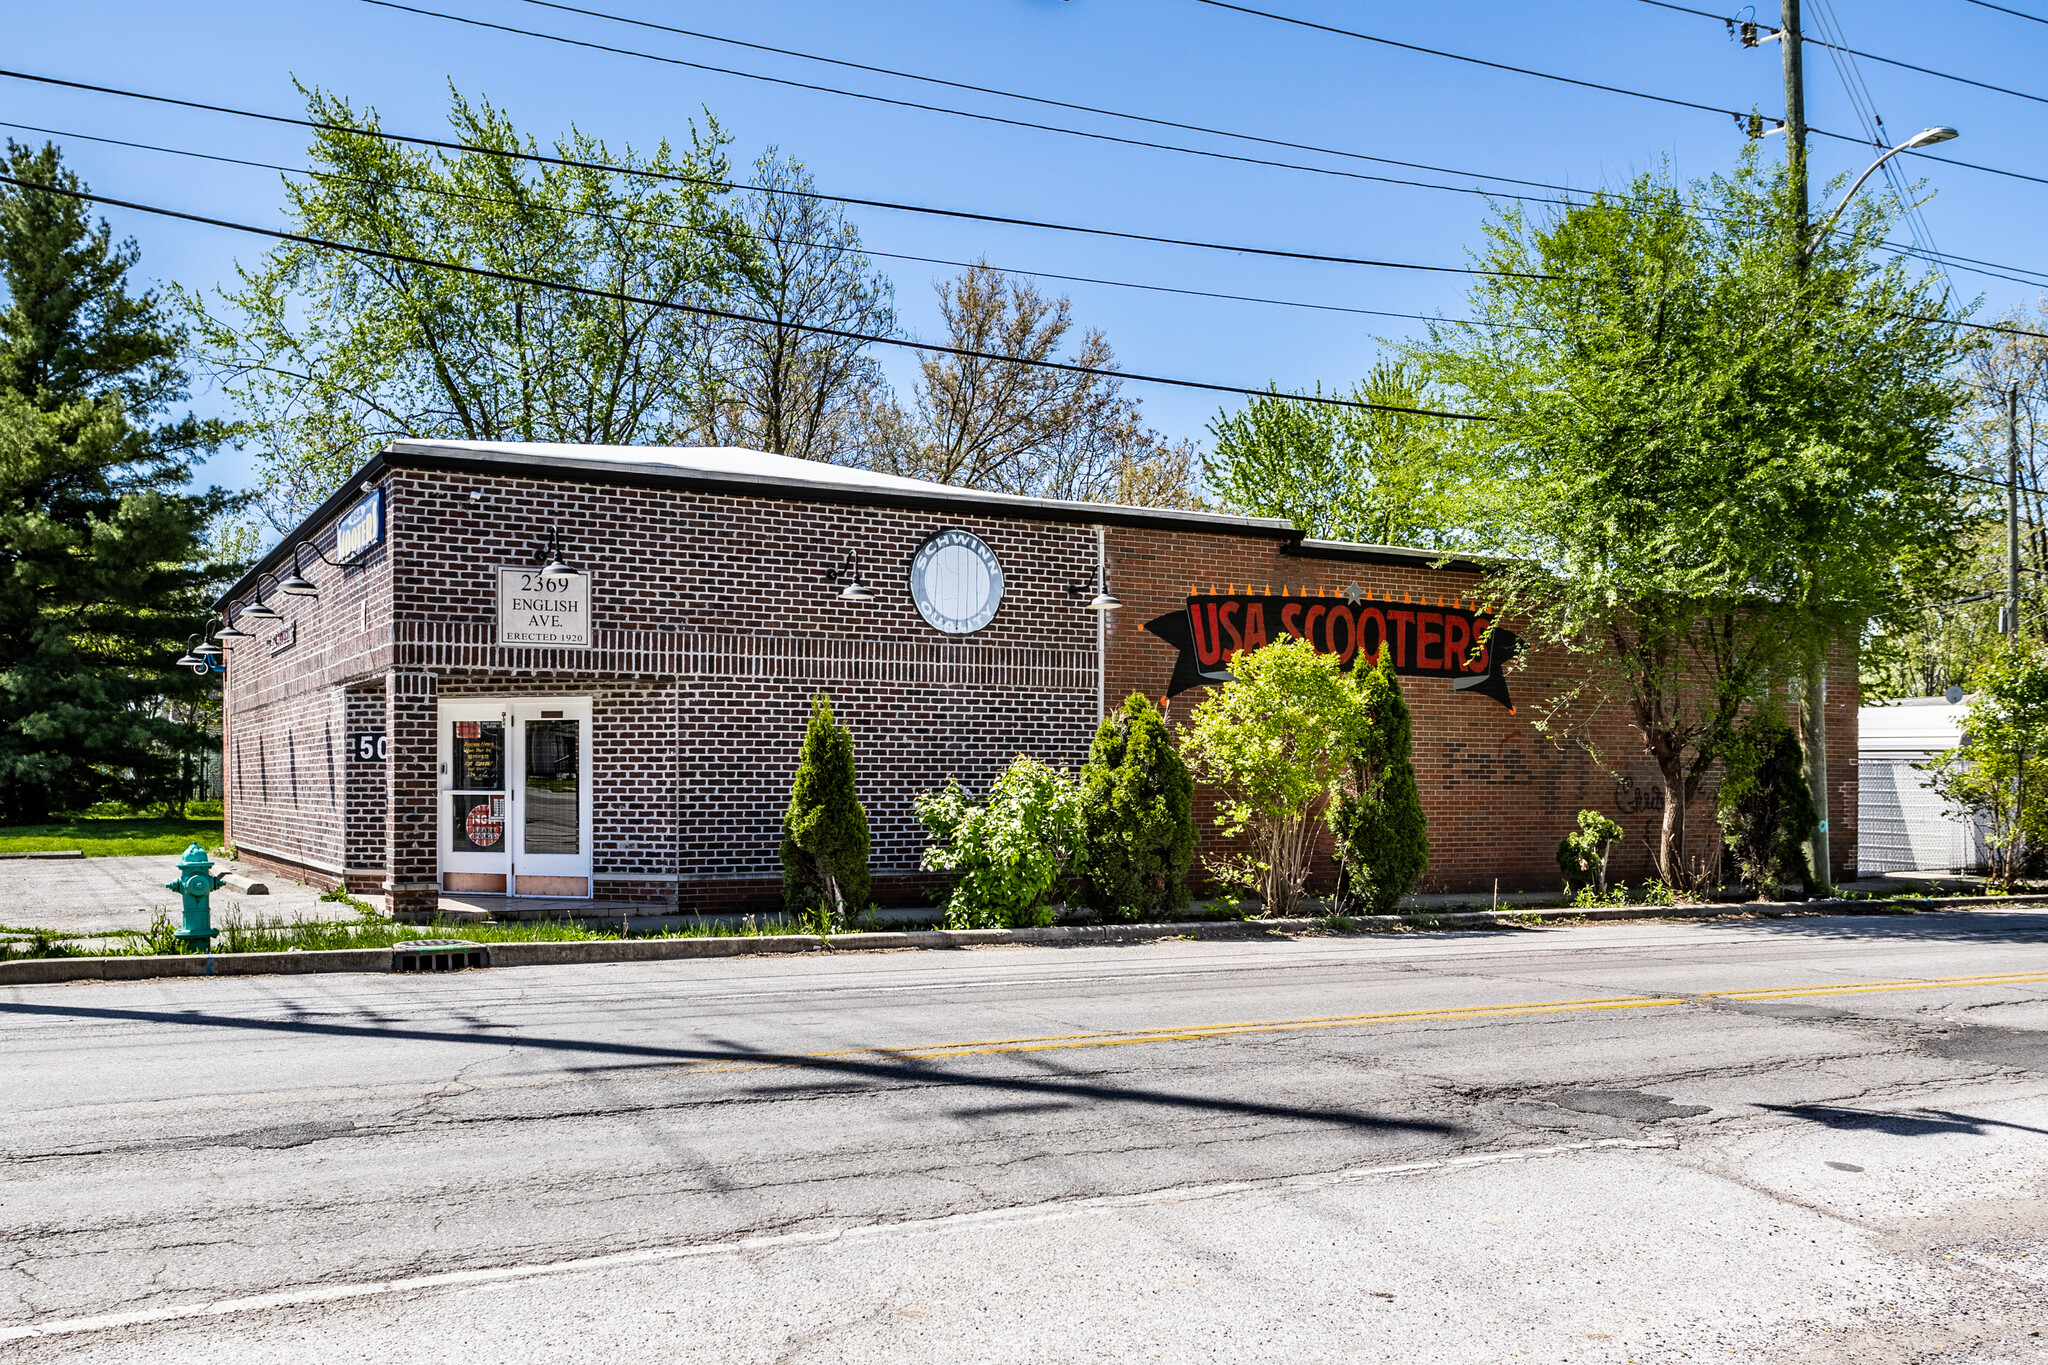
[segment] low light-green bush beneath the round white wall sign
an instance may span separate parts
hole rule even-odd
[[[948,782],[913,802],[932,833],[924,866],[954,876],[948,929],[1016,929],[1053,923],[1053,890],[1081,843],[1081,798],[1065,772],[1018,755],[975,802]]]

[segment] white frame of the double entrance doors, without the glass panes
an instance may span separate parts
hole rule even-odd
[[[567,839],[575,851],[561,851],[559,847],[528,851],[526,847],[530,835],[553,835],[549,841],[559,845],[565,833],[559,821],[549,821],[549,812],[543,806],[547,798],[545,790],[528,786],[528,724],[543,720],[569,720],[578,724],[573,774],[575,829],[573,837]],[[496,774],[498,786],[461,786],[463,774],[455,772],[457,722],[498,726],[502,757],[500,772]],[[440,888],[457,894],[590,898],[596,890],[590,876],[594,812],[590,792],[590,698],[446,698],[440,702],[436,739],[440,774],[434,802],[438,810]],[[545,778],[535,776],[535,782],[545,782]],[[481,817],[477,823],[477,829],[483,833],[496,833],[494,847],[487,851],[475,847],[475,839],[469,835],[477,831],[467,827],[461,839],[467,847],[457,849],[457,796],[469,804],[475,804],[477,798],[494,798],[498,802],[494,814]],[[537,825],[528,831],[530,821],[545,821],[551,829],[543,831]]]

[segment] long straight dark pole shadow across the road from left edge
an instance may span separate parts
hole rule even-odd
[[[219,1015],[205,1013],[197,1009],[164,1011],[164,1009],[96,1009],[80,1005],[14,1005],[0,1003],[0,1017],[33,1017],[33,1019],[104,1019],[104,1021],[125,1021],[125,1023],[152,1023],[160,1027],[174,1029],[231,1029],[231,1031],[254,1031],[254,1033],[301,1033],[309,1038],[352,1038],[360,1042],[424,1042],[424,1044],[481,1044],[504,1052],[506,1048],[532,1048],[537,1052],[557,1052],[575,1056],[602,1056],[614,1058],[627,1064],[674,1064],[674,1066],[705,1066],[707,1070],[752,1070],[752,1068],[801,1068],[813,1076],[846,1078],[846,1081],[866,1081],[883,1085],[944,1085],[961,1087],[965,1091],[999,1091],[1010,1095],[1032,1095],[1032,1097],[1067,1097],[1096,1103],[1120,1103],[1120,1105],[1153,1105],[1159,1109],[1196,1109],[1206,1113],[1235,1113],[1245,1117],[1272,1117],[1272,1119],[1292,1119],[1309,1124],[1333,1124],[1343,1128],[1368,1128],[1376,1132],[1413,1132],[1413,1134],[1458,1134],[1464,1132],[1460,1124],[1442,1124],[1434,1119],[1397,1119],[1376,1113],[1364,1113],[1360,1109],[1307,1109],[1300,1105],[1274,1105],[1255,1099],[1239,1099],[1229,1095],[1188,1095],[1178,1091],[1157,1091],[1141,1089],[1135,1085],[1116,1085],[1106,1081],[1090,1081],[1073,1074],[1038,1074],[1038,1076],[993,1076],[993,1074],[973,1074],[963,1070],[946,1070],[938,1062],[911,1056],[895,1056],[887,1050],[874,1052],[848,1052],[840,1056],[805,1056],[805,1054],[784,1054],[784,1052],[760,1052],[739,1044],[719,1044],[705,1048],[662,1048],[653,1044],[625,1044],[625,1042],[596,1042],[584,1038],[535,1038],[526,1033],[508,1033],[502,1027],[475,1031],[451,1031],[451,1029],[420,1029],[403,1027],[391,1023],[362,1025],[362,1023],[326,1023],[313,1019],[252,1019],[244,1015]],[[176,1050],[178,1040],[166,1040],[170,1050]],[[786,1091],[815,1087],[778,1087]]]

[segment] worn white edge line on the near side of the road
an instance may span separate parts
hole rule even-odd
[[[45,1336],[78,1336],[82,1332],[111,1332],[133,1326],[156,1326],[162,1322],[190,1322],[195,1318],[225,1318],[229,1314],[268,1312],[276,1308],[315,1308],[322,1304],[342,1304],[369,1300],[387,1293],[416,1293],[422,1289],[467,1289],[471,1285],[496,1285],[516,1279],[537,1279],[541,1275],[586,1275],[594,1271],[618,1271],[641,1265],[662,1265],[666,1261],[694,1261],[700,1257],[748,1254],[762,1250],[786,1250],[801,1246],[823,1246],[829,1242],[868,1240],[881,1236],[920,1236],[950,1232],[979,1224],[1006,1222],[1047,1222],[1055,1218],[1075,1218],[1079,1214],[1143,1207],[1153,1203],[1188,1203],[1192,1199],[1221,1199],[1262,1191],[1327,1189],[1352,1181],[1372,1181],[1399,1175],[1423,1175],[1430,1171],[1458,1171],[1464,1166],[1487,1166],[1507,1160],[1532,1160],[1542,1156],[1569,1156],[1591,1150],[1669,1150],[1677,1140],[1642,1142],[1634,1138],[1597,1138],[1591,1142],[1567,1142],[1561,1146],[1522,1148],[1513,1152],[1485,1152],[1479,1156],[1448,1156],[1444,1160],[1413,1160],[1391,1166],[1354,1166],[1350,1171],[1325,1171],[1321,1175],[1284,1175],[1268,1181],[1227,1181],[1217,1185],[1182,1185],[1139,1195],[1096,1195],[1090,1199],[1059,1199],[1051,1203],[1030,1203],[1014,1209],[983,1209],[979,1214],[948,1214],[944,1218],[920,1218],[895,1224],[864,1224],[858,1228],[836,1228],[827,1232],[784,1232],[778,1236],[737,1238],[729,1242],[692,1242],[686,1246],[643,1246],[639,1250],[606,1252],[602,1257],[573,1257],[569,1261],[535,1261],[528,1265],[500,1265],[475,1271],[442,1271],[438,1275],[408,1275],[403,1279],[369,1279],[352,1285],[307,1285],[303,1289],[283,1289],[279,1293],[252,1293],[233,1300],[213,1300],[207,1304],[184,1304],[180,1308],[143,1308],[125,1314],[96,1314],[90,1318],[59,1318],[55,1322],[0,1326],[0,1345],[14,1340],[37,1340]]]

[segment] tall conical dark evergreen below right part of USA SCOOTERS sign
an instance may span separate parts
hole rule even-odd
[[[1366,724],[1329,804],[1337,898],[1356,896],[1368,913],[1386,915],[1430,870],[1430,821],[1411,761],[1415,720],[1389,651],[1380,651],[1376,667],[1352,669],[1348,681]]]

